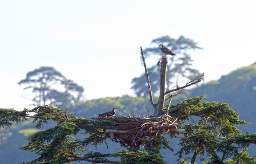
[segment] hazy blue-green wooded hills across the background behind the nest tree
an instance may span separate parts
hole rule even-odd
[[[200,87],[190,89],[190,91],[191,92],[183,92],[179,97],[174,97],[172,103],[176,105],[177,101],[183,101],[190,97],[202,95],[204,95],[204,97],[208,97],[208,99],[205,99],[204,101],[223,100],[224,103],[230,103],[230,107],[240,114],[241,120],[251,122],[249,125],[239,126],[238,129],[241,129],[244,133],[256,133],[256,63],[247,67],[239,68],[230,72],[228,75],[222,76],[219,80],[213,80],[209,83],[202,84]],[[121,116],[121,114],[133,115],[133,113],[136,113],[137,116],[145,116],[148,114],[148,110],[145,106],[149,109],[149,114],[152,114],[153,112],[148,99],[130,97],[127,95],[85,101],[76,106],[76,109],[70,110],[70,112],[75,113],[78,117],[89,118],[94,117],[98,113],[107,112],[114,106],[117,107],[117,116]],[[30,132],[31,129],[33,130],[33,128],[34,125],[31,125],[31,122],[30,124],[26,124],[24,122],[22,126],[19,124],[14,125],[7,132],[5,132],[4,129],[0,130],[2,136],[3,133],[7,136],[5,137],[5,140],[0,140],[2,141],[0,143],[1,162],[7,164],[22,163],[37,157],[35,154],[29,153],[28,151],[18,149],[18,147],[27,144],[27,136],[25,134]],[[78,137],[83,138],[84,134],[80,134]],[[108,153],[112,151],[113,147],[115,149],[119,148],[118,146],[115,147],[114,142],[107,142],[109,146]],[[103,147],[98,148],[105,150],[106,145],[103,144],[101,146]],[[175,152],[170,152],[170,150],[167,149],[164,149],[161,152],[165,157],[165,161],[168,161],[169,163],[176,163],[176,159],[178,157],[176,155],[174,156],[174,154],[179,150],[178,141],[171,140],[171,147],[175,149]],[[253,147],[250,148],[250,152],[251,154],[256,153]],[[12,154],[15,154],[15,158],[13,158]]]

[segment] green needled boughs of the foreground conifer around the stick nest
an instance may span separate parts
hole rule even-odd
[[[171,104],[171,109],[177,109],[176,107],[196,99],[203,100],[202,97],[193,97],[176,105]],[[164,110],[167,108],[168,105]],[[107,138],[111,138],[111,133],[105,131],[107,128],[104,128],[105,123],[96,118],[79,118],[65,111],[65,109],[53,108],[52,106],[38,106],[31,110],[24,109],[21,112],[13,109],[1,109],[0,125],[1,127],[11,126],[13,122],[23,122],[29,117],[33,119],[37,128],[40,128],[43,122],[50,120],[56,122],[57,125],[54,128],[34,133],[28,138],[29,143],[21,147],[23,150],[39,155],[37,159],[28,163],[71,163],[72,161],[164,163],[159,150],[164,147],[171,149],[171,142],[162,135],[155,134],[155,137],[143,144],[144,150],[138,150],[133,149],[131,145],[123,144],[121,140],[116,140],[115,134],[112,141],[119,143],[121,147],[124,147],[124,150],[116,151],[113,154],[92,152],[86,148],[88,145],[97,146],[103,144]],[[36,114],[30,116],[30,113]],[[236,128],[236,125],[247,124],[247,122],[239,120],[239,114],[230,109],[229,104],[203,101],[178,110],[170,110],[169,114],[175,118],[177,123],[175,125],[184,129],[181,136],[178,133],[171,133],[172,131],[165,131],[172,138],[180,140],[179,145],[182,148],[176,153],[180,159],[188,159],[187,157],[183,158],[183,156],[189,157],[191,154],[191,163],[195,162],[196,157],[203,159],[204,155],[210,157],[210,161],[207,163],[229,163],[239,161],[241,158],[249,158],[250,161],[255,160],[246,152],[250,144],[255,145],[256,134],[243,134],[241,130]],[[107,122],[111,119],[115,118],[104,118]],[[85,133],[89,137],[77,139],[78,133]],[[137,140],[143,139],[148,140],[148,138],[137,138]],[[245,148],[245,150],[239,151],[241,148]],[[119,157],[119,159],[110,160],[109,157]]]

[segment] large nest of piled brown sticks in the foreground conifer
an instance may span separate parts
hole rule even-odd
[[[156,134],[169,133],[176,136],[175,134],[184,132],[184,129],[177,128],[176,118],[171,116],[157,118],[114,116],[92,119],[94,124],[104,129],[111,140],[119,141],[121,144],[130,147],[137,147],[145,142],[150,142]]]

